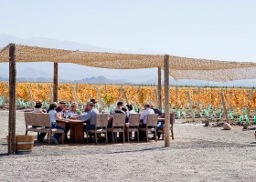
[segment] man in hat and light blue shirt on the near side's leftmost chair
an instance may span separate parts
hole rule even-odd
[[[86,115],[79,116],[78,118],[85,123],[87,123],[86,126],[83,127],[83,130],[86,132],[87,130],[93,130],[95,129],[95,124],[96,124],[96,116],[97,113],[93,109],[93,103],[92,102],[87,102],[86,103],[86,108],[87,108],[87,113]],[[92,139],[92,134],[90,135],[89,139]]]

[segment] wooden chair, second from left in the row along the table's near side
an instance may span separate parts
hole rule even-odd
[[[114,114],[112,118],[112,128],[108,128],[108,132],[112,132],[112,143],[114,143],[114,133],[123,132],[123,143],[125,143],[124,138],[124,127],[125,127],[125,118],[126,115],[124,114]]]

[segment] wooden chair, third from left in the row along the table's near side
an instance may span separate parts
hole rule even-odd
[[[139,139],[139,125],[140,125],[140,117],[141,114],[130,114],[129,115],[129,126],[126,127],[126,132],[127,132],[127,140],[130,142],[130,133],[132,132],[137,132],[137,140],[138,142],[140,141]]]

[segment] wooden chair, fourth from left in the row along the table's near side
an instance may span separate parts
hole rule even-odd
[[[145,132],[145,138],[146,142],[148,142],[148,132],[155,132],[155,142],[157,142],[157,135],[156,135],[156,127],[157,127],[157,120],[158,120],[158,115],[157,114],[149,114],[147,116],[147,122],[145,128],[139,128],[140,131]],[[150,126],[150,127],[148,127]],[[151,127],[152,126],[152,127]]]

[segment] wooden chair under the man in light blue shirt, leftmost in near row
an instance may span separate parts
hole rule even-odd
[[[86,131],[87,143],[88,143],[89,133],[94,133],[96,145],[98,144],[97,135],[101,133],[105,134],[106,144],[108,143],[108,134],[107,134],[108,118],[109,118],[108,114],[98,114],[96,116],[95,129]]]

